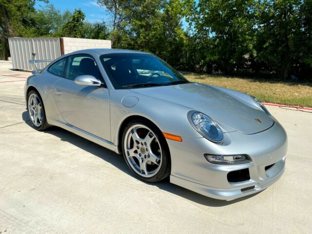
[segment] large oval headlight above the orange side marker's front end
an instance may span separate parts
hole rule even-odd
[[[195,111],[189,112],[188,118],[195,130],[203,137],[215,142],[222,141],[223,134],[221,129],[213,119]]]

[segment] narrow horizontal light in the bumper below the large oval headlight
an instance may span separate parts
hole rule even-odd
[[[209,155],[204,154],[208,162],[219,165],[235,165],[251,162],[247,155]]]

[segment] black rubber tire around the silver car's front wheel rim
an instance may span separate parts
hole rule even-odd
[[[157,172],[157,174],[152,176],[152,177],[144,177],[144,176],[139,175],[135,170],[133,170],[133,168],[130,166],[130,164],[127,160],[126,150],[124,148],[124,141],[125,141],[127,131],[132,126],[134,126],[136,124],[145,125],[150,130],[152,130],[156,134],[156,137],[157,137],[157,139],[161,145],[162,160],[161,160],[160,169]],[[136,119],[136,120],[129,122],[123,131],[121,145],[122,145],[122,154],[123,154],[123,157],[124,157],[128,167],[129,167],[129,169],[139,179],[146,181],[146,182],[153,182],[154,183],[154,182],[158,182],[160,180],[163,180],[170,175],[171,159],[170,159],[169,147],[168,147],[168,144],[167,144],[165,137],[162,135],[161,131],[154,124],[151,124],[149,121],[147,121],[145,119]]]

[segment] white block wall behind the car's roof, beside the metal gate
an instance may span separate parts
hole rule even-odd
[[[110,40],[82,39],[82,38],[62,38],[62,39],[64,45],[64,54],[84,49],[112,48],[112,42]]]

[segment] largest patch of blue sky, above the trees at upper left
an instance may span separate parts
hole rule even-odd
[[[73,12],[75,8],[80,8],[86,15],[86,20],[95,22],[99,20],[109,21],[109,17],[106,14],[104,8],[97,5],[97,0],[50,0],[55,8],[60,9],[62,12],[70,10]],[[36,8],[40,6],[46,6],[46,3],[42,1],[36,1]]]

